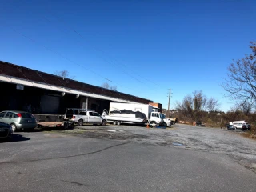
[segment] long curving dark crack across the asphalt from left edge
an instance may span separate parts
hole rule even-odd
[[[123,142],[121,144],[118,145],[114,145],[114,146],[108,146],[106,148],[103,148],[102,150],[95,150],[93,152],[89,152],[86,154],[74,154],[74,155],[69,155],[69,156],[64,156],[64,157],[56,157],[56,158],[41,158],[41,159],[32,159],[32,160],[26,160],[26,161],[10,161],[10,162],[0,162],[0,165],[2,164],[12,164],[12,163],[22,163],[22,162],[41,162],[41,161],[47,161],[47,160],[53,160],[53,159],[60,159],[60,158],[74,158],[74,157],[79,157],[79,156],[84,156],[84,155],[88,155],[88,154],[97,154],[100,153],[104,150],[109,150],[115,146],[123,146],[128,144],[129,142]]]

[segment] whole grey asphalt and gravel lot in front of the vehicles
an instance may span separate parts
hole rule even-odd
[[[17,132],[0,143],[2,191],[255,191],[256,144],[174,125]]]

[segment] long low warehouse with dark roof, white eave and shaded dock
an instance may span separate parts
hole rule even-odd
[[[103,109],[109,109],[110,102],[154,103],[146,98],[2,61],[0,89],[0,111],[27,110],[27,106],[30,106],[34,114],[64,114],[69,107],[102,113]],[[155,105],[162,110],[161,104]]]

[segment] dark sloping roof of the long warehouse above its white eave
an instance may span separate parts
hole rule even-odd
[[[90,85],[85,82],[78,82],[70,78],[65,78],[65,80],[63,80],[58,75],[47,74],[42,71],[32,70],[24,66],[18,66],[10,62],[3,62],[1,60],[0,60],[0,68],[1,68],[0,74],[2,74],[2,76],[5,76],[7,78],[19,78],[24,82],[37,82],[39,84],[46,84],[48,86],[58,86],[62,88],[65,87],[70,90],[79,89],[77,90],[79,92],[81,91],[81,92],[105,95],[106,97],[111,98],[110,101],[113,101],[112,98],[118,98],[122,101],[123,100],[131,101],[131,102],[134,101],[137,103],[153,102],[150,99],[137,97],[131,94],[125,94],[115,90],[109,90],[100,86]],[[44,78],[46,78],[47,80],[45,80]],[[7,81],[7,82],[10,82],[10,81]],[[31,83],[30,83],[30,86],[31,86]],[[81,86],[81,89],[80,89],[80,86]],[[122,102],[122,101],[119,101],[119,102]]]

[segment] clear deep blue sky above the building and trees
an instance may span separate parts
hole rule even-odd
[[[162,103],[222,82],[256,41],[256,1],[0,0],[0,60]]]

